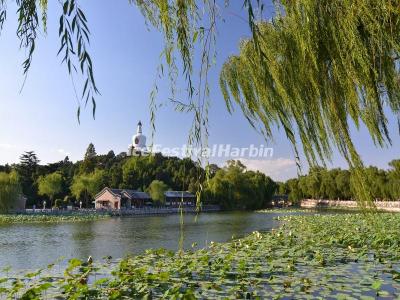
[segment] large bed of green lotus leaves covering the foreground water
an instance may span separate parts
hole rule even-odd
[[[106,277],[99,273],[109,265],[72,260],[62,278],[46,271],[4,278],[0,292],[26,299],[45,290],[62,299],[397,298],[399,232],[398,214],[290,216],[277,230],[209,249],[125,258]]]

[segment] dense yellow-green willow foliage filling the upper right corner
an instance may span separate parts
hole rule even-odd
[[[283,127],[296,152],[299,136],[311,166],[336,147],[355,175],[357,199],[371,200],[350,124],[365,125],[377,146],[391,144],[385,108],[400,113],[398,5],[277,1],[275,11],[223,66],[228,107],[238,103],[267,138]]]

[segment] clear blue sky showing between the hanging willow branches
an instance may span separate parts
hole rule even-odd
[[[294,177],[296,166],[292,148],[283,132],[276,130],[275,140],[265,141],[238,109],[233,115],[226,110],[218,86],[218,72],[224,60],[238,52],[240,39],[249,35],[246,22],[238,17],[245,16],[245,12],[239,2],[231,2],[235,3],[221,9],[225,22],[218,25],[217,63],[210,73],[209,144],[273,147],[272,158],[245,159],[245,163],[274,179]],[[149,93],[163,46],[160,34],[146,27],[138,9],[128,1],[113,1],[112,5],[106,0],[81,3],[92,32],[90,53],[101,90],[101,96],[97,97],[96,120],[92,119],[91,107],[83,110],[81,124],[76,119],[77,102],[71,79],[60,57],[56,56],[61,11],[58,1],[49,1],[48,33],[38,37],[34,60],[20,92],[25,52],[19,50],[15,35],[16,9],[10,3],[8,20],[0,36],[0,164],[15,163],[21,153],[28,150],[34,150],[43,163],[61,160],[66,155],[75,161],[82,159],[90,142],[98,153],[111,149],[115,153],[126,151],[138,120],[142,120],[144,133],[150,136]],[[154,142],[178,147],[187,142],[192,115],[175,112],[168,97],[168,82],[164,80],[160,83],[158,101],[163,105],[156,115]],[[391,148],[375,148],[365,129],[354,133],[355,144],[366,164],[386,168],[390,160],[400,158],[397,122],[393,116],[389,121]],[[214,162],[222,164],[223,160]],[[335,154],[332,166],[346,167],[346,164]]]

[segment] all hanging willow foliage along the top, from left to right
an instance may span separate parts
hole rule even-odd
[[[266,138],[282,127],[298,156],[301,143],[310,165],[325,163],[334,147],[348,161],[361,203],[371,200],[363,163],[350,135],[350,124],[364,124],[378,146],[390,144],[386,111],[399,113],[398,67],[400,22],[394,0],[275,0],[274,17],[264,21],[262,0],[241,0],[252,39],[221,71],[221,88],[232,109],[236,101]],[[0,30],[7,0],[0,0]],[[189,143],[206,146],[208,71],[215,58],[219,4],[228,0],[128,0],[164,37],[159,75],[167,74],[177,110],[192,111]],[[83,77],[81,101],[99,94],[89,55],[88,21],[78,0],[61,0],[59,36],[68,73]],[[47,27],[47,0],[17,0],[17,35],[27,50],[26,74],[36,36]],[[257,13],[256,13],[257,12]],[[199,59],[195,59],[196,47]],[[181,62],[188,101],[176,100]],[[195,61],[200,64],[195,68]],[[165,67],[166,66],[166,67]],[[196,75],[196,76],[195,76]],[[157,84],[151,92],[154,126]],[[78,117],[80,106],[78,108]]]

